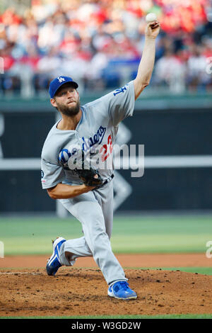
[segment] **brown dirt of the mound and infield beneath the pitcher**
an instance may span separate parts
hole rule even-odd
[[[212,276],[124,269],[138,295],[137,300],[124,301],[107,296],[107,284],[92,258],[61,267],[57,276],[47,276],[46,259],[0,259],[1,317],[212,313]],[[124,267],[211,266],[205,254],[117,255],[117,259]]]

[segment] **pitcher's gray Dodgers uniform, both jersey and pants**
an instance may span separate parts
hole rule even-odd
[[[130,81],[121,89],[81,106],[82,117],[76,130],[59,130],[56,123],[47,135],[42,149],[42,188],[52,188],[59,183],[82,184],[74,171],[69,169],[69,159],[74,154],[74,149],[71,150],[70,147],[81,145],[86,152],[99,145],[102,161],[110,158],[118,124],[133,114],[134,103],[134,83]],[[109,180],[112,171],[112,166],[99,169],[102,178]],[[61,264],[72,266],[77,257],[93,256],[108,285],[114,281],[126,281],[122,266],[112,253],[110,245],[113,220],[112,181],[102,188],[59,201],[83,227],[83,237],[68,239],[61,245]],[[64,252],[73,254],[71,262],[66,259]]]

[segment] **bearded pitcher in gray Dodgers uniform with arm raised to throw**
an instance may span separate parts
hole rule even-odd
[[[107,294],[124,300],[137,295],[129,288],[110,245],[112,145],[119,123],[133,115],[136,98],[150,83],[159,30],[158,21],[146,25],[136,79],[110,94],[81,106],[78,84],[71,77],[57,77],[49,84],[50,102],[61,119],[49,131],[42,149],[42,188],[81,222],[83,237],[54,240],[47,274],[54,275],[60,266],[73,266],[78,257],[93,256],[107,282]]]

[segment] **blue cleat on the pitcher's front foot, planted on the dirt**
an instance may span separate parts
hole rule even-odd
[[[117,281],[114,283],[108,288],[107,295],[119,300],[134,300],[137,298],[136,293],[129,288],[129,284],[126,281]]]

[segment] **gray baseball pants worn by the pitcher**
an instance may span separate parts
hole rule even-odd
[[[81,222],[84,234],[77,239],[68,239],[61,245],[61,265],[73,266],[76,258],[93,256],[109,286],[114,281],[127,281],[110,244],[113,222],[112,181],[98,190],[59,201]],[[73,254],[71,261],[66,259],[65,252]]]

